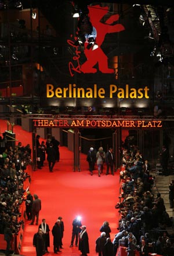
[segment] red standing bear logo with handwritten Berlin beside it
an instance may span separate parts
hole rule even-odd
[[[92,48],[88,49],[86,47],[88,45],[88,40],[86,38],[86,42],[84,43],[84,54],[86,56],[86,61],[80,65],[79,58],[81,55],[81,51],[79,50],[79,46],[75,45],[75,41],[67,40],[67,43],[71,45],[74,49],[73,62],[69,62],[69,70],[70,74],[73,77],[74,73],[96,73],[97,69],[96,64],[99,67],[100,72],[102,73],[114,73],[114,69],[110,69],[108,67],[108,58],[106,54],[104,54],[101,46],[103,44],[104,38],[106,34],[110,33],[118,33],[125,30],[125,27],[122,24],[117,23],[119,20],[119,15],[114,14],[106,19],[106,15],[108,15],[108,6],[102,7],[100,5],[89,6],[89,17],[92,26],[96,29],[96,44],[98,46],[94,51]],[[105,16],[105,17],[104,17]],[[105,22],[104,22],[105,20]],[[78,33],[78,32],[77,32]]]

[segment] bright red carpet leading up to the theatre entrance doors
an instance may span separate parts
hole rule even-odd
[[[1,125],[1,132],[2,129]],[[23,131],[20,126],[14,126],[14,133],[23,145],[31,144],[31,134]],[[60,147],[60,162],[56,163],[53,173],[49,172],[46,161],[42,170],[36,170],[33,173],[30,191],[32,195],[38,194],[42,200],[39,223],[42,218],[45,218],[52,230],[57,217],[63,217],[64,249],[59,255],[81,254],[77,247],[70,248],[72,222],[77,215],[82,216],[82,225],[86,225],[88,231],[89,255],[96,255],[95,240],[100,236],[99,229],[104,221],[110,223],[112,240],[118,232],[118,210],[114,208],[114,205],[119,195],[119,173],[115,173],[115,176],[106,176],[105,173],[106,170],[101,177],[98,177],[97,170],[95,170],[93,176],[90,176],[84,154],[81,155],[81,172],[73,172],[73,152],[68,151],[66,147]],[[35,255],[32,237],[37,232],[38,226],[30,226],[29,223],[26,221],[21,250],[21,254],[25,256]],[[49,255],[55,255],[51,232],[49,251]]]

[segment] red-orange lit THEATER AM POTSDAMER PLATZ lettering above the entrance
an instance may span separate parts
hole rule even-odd
[[[133,128],[133,127],[146,127],[146,128],[156,128],[162,127],[162,122],[160,120],[89,120],[89,119],[34,119],[32,120],[33,125],[37,127],[59,127],[59,128]]]

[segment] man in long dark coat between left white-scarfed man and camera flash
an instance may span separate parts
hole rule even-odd
[[[52,235],[53,235],[54,253],[57,254],[57,251],[60,251],[60,247],[62,246],[60,219],[57,219],[55,225],[53,226]]]

